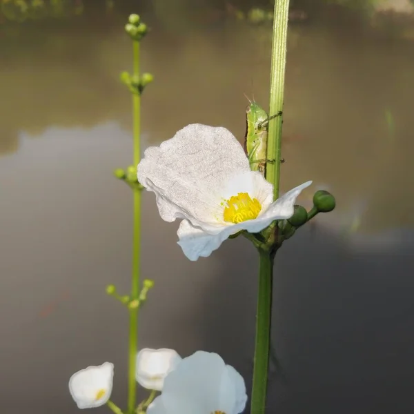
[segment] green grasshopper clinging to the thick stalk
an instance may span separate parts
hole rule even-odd
[[[248,104],[246,108],[244,150],[252,171],[259,171],[264,175],[266,172],[266,162],[275,162],[275,160],[266,159],[268,121],[280,115],[282,115],[281,111],[269,117],[267,112],[255,101],[250,101]],[[281,162],[284,162],[284,160],[282,159]]]

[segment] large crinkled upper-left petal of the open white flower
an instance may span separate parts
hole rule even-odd
[[[197,220],[209,221],[220,199],[217,191],[226,186],[229,177],[250,167],[229,130],[191,124],[161,146],[148,148],[137,170],[143,186],[161,190],[157,206],[162,219],[174,221],[184,210]]]

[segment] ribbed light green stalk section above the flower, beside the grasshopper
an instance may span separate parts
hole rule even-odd
[[[286,66],[286,40],[288,34],[289,0],[275,0],[272,37],[272,66],[270,70],[269,114],[283,110],[284,78]],[[270,119],[268,126],[267,159],[275,159],[266,166],[266,179],[273,184],[273,198],[279,197],[279,173],[282,152],[282,116]]]

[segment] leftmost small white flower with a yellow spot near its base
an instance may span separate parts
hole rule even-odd
[[[99,366],[88,366],[73,374],[69,380],[69,391],[78,408],[95,408],[106,404],[112,393],[114,365],[105,362]]]

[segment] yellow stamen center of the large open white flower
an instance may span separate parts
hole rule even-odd
[[[262,210],[259,200],[251,199],[248,193],[233,195],[222,205],[226,206],[223,213],[224,221],[235,224],[255,219]]]

